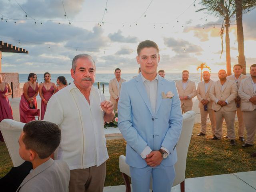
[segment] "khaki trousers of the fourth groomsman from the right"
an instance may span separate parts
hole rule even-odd
[[[206,134],[206,128],[207,128],[207,115],[209,114],[209,118],[211,121],[211,127],[212,127],[212,134],[215,134],[215,128],[216,128],[216,119],[214,110],[208,109],[207,111],[204,111],[204,108],[200,108],[200,115],[201,115],[201,132],[203,134]]]

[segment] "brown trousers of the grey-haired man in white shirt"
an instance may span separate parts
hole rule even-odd
[[[100,166],[70,170],[69,192],[103,192],[106,162]]]

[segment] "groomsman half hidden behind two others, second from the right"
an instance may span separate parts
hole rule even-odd
[[[248,78],[248,76],[242,74],[243,67],[240,64],[236,64],[233,67],[234,75],[230,75],[227,77],[228,80],[232,80],[236,82],[237,89],[240,86],[240,83],[243,79]],[[236,113],[238,118],[238,137],[240,141],[244,141],[244,113],[241,111],[241,98],[239,95],[235,98],[236,103]]]

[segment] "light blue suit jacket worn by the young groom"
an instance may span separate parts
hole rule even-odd
[[[174,93],[173,98],[162,98],[162,92]],[[156,113],[152,112],[141,74],[123,82],[118,102],[118,128],[126,146],[126,163],[143,168],[147,164],[140,156],[148,145],[153,151],[164,146],[170,155],[161,164],[172,166],[177,161],[176,144],[182,130],[182,112],[175,82],[159,76]]]

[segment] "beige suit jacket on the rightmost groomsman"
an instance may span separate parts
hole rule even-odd
[[[253,111],[256,109],[256,105],[252,104],[249,99],[253,96],[256,96],[256,93],[253,92],[253,86],[251,82],[251,77],[242,80],[238,94],[241,98],[241,110],[242,111]]]

